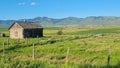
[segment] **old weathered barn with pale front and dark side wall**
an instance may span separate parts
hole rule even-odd
[[[43,36],[43,28],[35,22],[16,21],[9,27],[10,38],[36,38]]]

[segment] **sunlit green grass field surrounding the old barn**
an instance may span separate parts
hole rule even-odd
[[[62,35],[57,35],[59,29]],[[5,28],[0,32],[9,34]],[[120,68],[120,26],[50,27],[42,38],[9,39],[9,45],[7,39],[0,37],[0,68]]]

